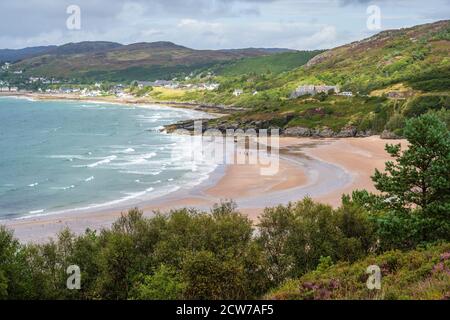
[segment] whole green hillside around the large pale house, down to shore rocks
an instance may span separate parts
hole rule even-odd
[[[388,129],[401,134],[407,118],[429,109],[450,109],[449,52],[450,23],[439,21],[383,31],[323,52],[306,65],[279,74],[238,74],[238,69],[247,70],[243,66],[226,69],[230,75],[217,77],[221,84],[218,90],[189,92],[177,99],[248,110],[213,120],[211,126],[236,123],[246,128],[300,126],[322,130],[326,135],[330,135],[328,129],[336,134],[342,130],[348,133],[350,129],[352,134],[360,135]],[[249,60],[260,58],[243,61]],[[341,91],[351,91],[353,96],[319,94],[289,98],[299,85],[321,84],[337,85]],[[235,89],[242,89],[243,94],[233,95]]]

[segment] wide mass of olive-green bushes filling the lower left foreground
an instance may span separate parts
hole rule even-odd
[[[137,209],[100,233],[69,230],[21,245],[0,229],[0,298],[252,299],[269,288],[252,222],[232,203],[144,218]],[[68,290],[67,267],[81,270]]]

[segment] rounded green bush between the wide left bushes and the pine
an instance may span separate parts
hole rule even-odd
[[[367,212],[348,201],[334,210],[303,201],[268,208],[259,223],[260,238],[275,282],[313,270],[320,258],[355,261],[375,246]]]

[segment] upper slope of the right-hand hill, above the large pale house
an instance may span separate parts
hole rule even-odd
[[[448,20],[384,31],[316,56],[286,80],[339,84],[365,93],[400,82],[416,90],[448,90],[449,41]],[[424,86],[426,80],[431,83]]]

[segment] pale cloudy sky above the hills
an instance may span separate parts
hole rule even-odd
[[[71,5],[79,7],[79,16],[67,13]],[[0,48],[102,40],[171,41],[194,49],[328,49],[449,18],[450,0],[2,0]],[[79,21],[79,28],[68,28],[68,19]],[[368,27],[368,20],[380,23]]]

